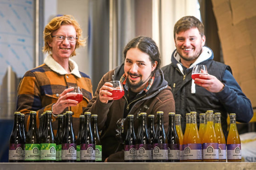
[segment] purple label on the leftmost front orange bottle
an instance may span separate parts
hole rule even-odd
[[[188,143],[184,149],[184,157],[187,160],[200,160],[202,159],[202,144],[201,143]]]

